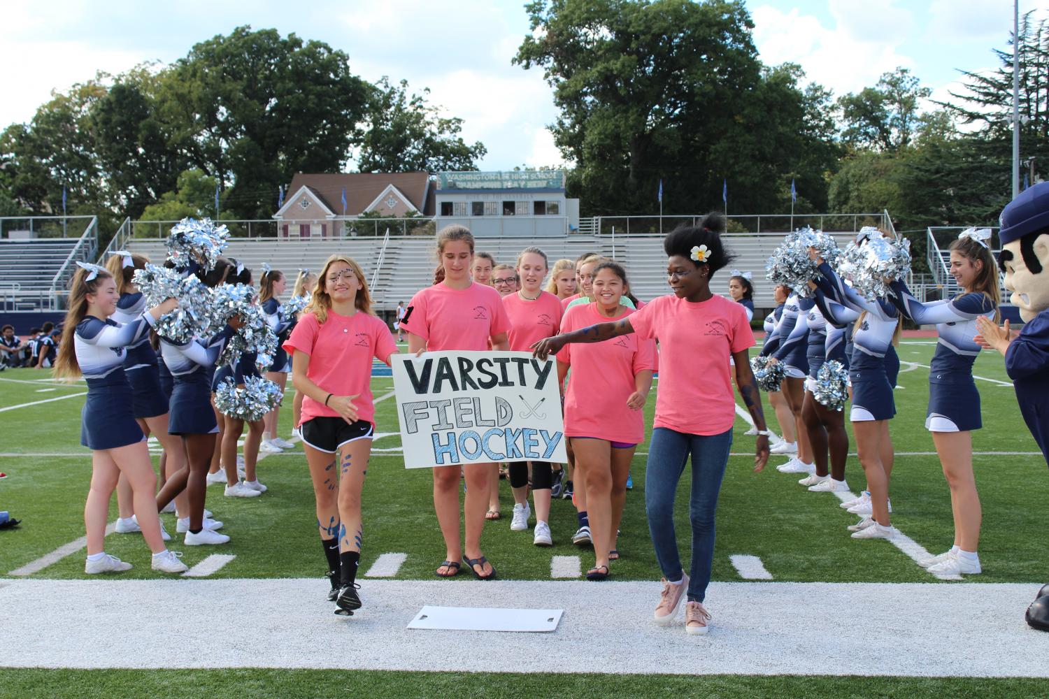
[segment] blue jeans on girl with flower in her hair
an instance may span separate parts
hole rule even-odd
[[[692,522],[689,602],[703,602],[710,583],[718,493],[731,446],[731,429],[720,435],[690,435],[667,428],[652,430],[645,473],[645,512],[659,567],[671,582],[680,581],[684,571],[673,528],[673,500],[688,454],[692,454],[692,492],[688,500],[688,517]]]

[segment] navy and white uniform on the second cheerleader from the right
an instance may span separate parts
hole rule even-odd
[[[885,356],[893,346],[893,334],[899,323],[899,310],[884,299],[868,301],[847,286],[830,265],[819,265],[821,277],[816,284],[834,301],[863,312],[862,323],[853,336],[853,354],[849,378],[853,385],[853,401],[849,419],[853,422],[889,420],[896,415],[893,385],[885,370]]]

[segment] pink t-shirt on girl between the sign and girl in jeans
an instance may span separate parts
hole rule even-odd
[[[612,323],[636,312],[627,308],[621,315],[606,318],[598,312],[597,304],[573,306],[561,319],[561,332]],[[641,340],[631,332],[603,343],[570,344],[557,353],[557,361],[572,366],[564,393],[566,437],[597,437],[627,444],[644,440],[644,411],[630,410],[626,399],[635,391],[638,372],[657,368],[655,340]],[[595,405],[595,396],[599,396],[600,406]]]

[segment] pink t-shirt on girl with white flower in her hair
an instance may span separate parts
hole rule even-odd
[[[660,345],[659,393],[652,427],[718,435],[735,420],[728,359],[754,346],[747,312],[714,294],[701,303],[659,297],[630,315],[639,337]]]

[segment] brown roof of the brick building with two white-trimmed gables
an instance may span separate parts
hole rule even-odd
[[[425,172],[399,173],[296,173],[290,194],[306,187],[336,214],[342,214],[342,192],[346,191],[346,214],[363,214],[368,204],[392,184],[409,199],[415,211],[433,216],[430,176]]]

